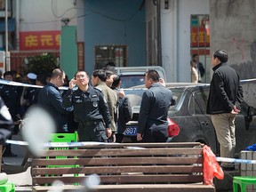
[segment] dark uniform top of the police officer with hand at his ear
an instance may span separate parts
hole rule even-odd
[[[69,89],[63,97],[63,104],[65,107],[74,107],[74,117],[78,123],[104,120],[106,128],[110,127],[108,104],[102,92],[90,85],[87,92],[79,88],[76,91]]]

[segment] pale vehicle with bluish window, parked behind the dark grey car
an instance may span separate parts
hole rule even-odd
[[[121,78],[121,88],[129,88],[132,86],[144,84],[145,72],[148,69],[155,69],[161,78],[166,82],[164,68],[160,66],[141,66],[141,67],[116,67],[116,74]]]

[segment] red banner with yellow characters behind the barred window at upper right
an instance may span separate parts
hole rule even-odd
[[[210,47],[210,35],[205,28],[191,27],[191,47]]]

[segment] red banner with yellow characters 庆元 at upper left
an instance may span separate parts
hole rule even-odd
[[[60,50],[60,31],[20,32],[20,51]]]

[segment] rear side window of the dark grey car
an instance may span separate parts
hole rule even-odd
[[[206,106],[209,90],[203,87],[196,92],[192,92],[188,103],[188,111],[193,115],[206,114]]]

